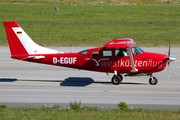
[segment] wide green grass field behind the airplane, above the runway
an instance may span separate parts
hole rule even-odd
[[[109,36],[133,38],[138,46],[179,47],[179,5],[175,0],[1,0],[0,23],[16,20],[42,46],[102,46]],[[0,45],[8,45],[3,24]]]

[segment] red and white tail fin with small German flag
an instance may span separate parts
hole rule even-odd
[[[60,51],[44,48],[36,44],[26,32],[15,22],[3,22],[11,51],[11,56],[30,54],[53,54],[63,53]]]

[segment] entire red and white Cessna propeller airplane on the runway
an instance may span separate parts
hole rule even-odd
[[[150,76],[149,83],[158,80],[153,73],[162,71],[176,60],[168,55],[144,52],[131,38],[114,39],[103,47],[78,53],[64,53],[37,45],[15,22],[4,22],[11,58],[56,66],[114,73],[112,83],[118,85],[124,76]]]

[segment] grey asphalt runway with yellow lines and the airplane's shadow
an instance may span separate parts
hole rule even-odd
[[[89,48],[89,47],[88,47]],[[78,52],[87,47],[53,47],[64,52]],[[168,48],[142,48],[167,54]],[[10,58],[8,47],[0,47],[0,104],[8,107],[65,106],[70,102],[100,108],[117,107],[126,102],[129,107],[145,109],[180,109],[180,48],[171,48],[177,61],[154,74],[157,85],[149,85],[149,77],[125,77],[113,85],[106,73],[28,63]]]

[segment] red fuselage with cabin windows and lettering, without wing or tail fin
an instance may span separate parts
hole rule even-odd
[[[159,72],[166,67],[167,55],[144,52],[139,49],[137,47],[132,50],[137,73]],[[122,53],[118,55],[120,51]],[[41,54],[36,54],[36,56],[41,56]],[[132,70],[126,49],[98,47],[78,53],[43,54],[43,56],[43,59],[26,59],[26,61],[109,73],[114,71],[121,74],[131,73]]]

